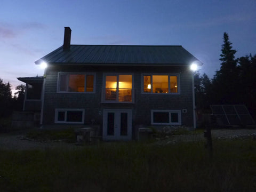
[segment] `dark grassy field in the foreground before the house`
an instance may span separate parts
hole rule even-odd
[[[2,191],[255,191],[256,141],[0,151]]]

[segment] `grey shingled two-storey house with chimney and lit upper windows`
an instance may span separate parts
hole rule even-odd
[[[139,126],[195,127],[189,66],[202,63],[182,46],[71,45],[70,39],[65,27],[63,46],[35,61],[47,63],[37,78],[42,125],[97,124],[103,140],[131,140]]]

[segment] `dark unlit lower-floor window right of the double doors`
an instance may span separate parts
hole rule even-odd
[[[181,125],[180,110],[151,110],[152,125]]]

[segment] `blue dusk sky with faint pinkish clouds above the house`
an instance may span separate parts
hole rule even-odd
[[[42,76],[35,61],[63,44],[182,45],[210,78],[220,68],[223,33],[236,57],[256,54],[255,0],[1,0],[0,78]]]

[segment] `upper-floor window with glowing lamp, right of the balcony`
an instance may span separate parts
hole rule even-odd
[[[143,75],[143,93],[179,93],[179,75]]]

